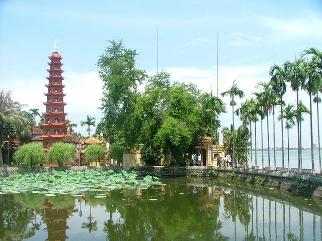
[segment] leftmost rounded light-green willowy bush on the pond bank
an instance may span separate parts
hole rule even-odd
[[[22,145],[14,154],[14,159],[17,163],[25,163],[28,168],[34,167],[36,164],[42,162],[46,156],[42,149],[41,143],[28,143]]]

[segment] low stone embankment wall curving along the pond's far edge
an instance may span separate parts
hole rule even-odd
[[[37,167],[28,170],[23,167],[0,168],[0,177],[8,177],[13,173],[48,172],[51,170],[85,171],[88,168],[103,170],[118,169],[119,167]],[[162,177],[211,177],[219,179],[232,179],[239,183],[248,182],[266,185],[285,190],[307,193],[322,197],[322,176],[295,172],[254,170],[243,168],[219,168],[219,167],[166,167],[146,166],[133,167],[139,175],[160,175]]]

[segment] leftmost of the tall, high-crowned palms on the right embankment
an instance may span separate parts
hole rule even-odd
[[[286,71],[282,66],[274,64],[269,74],[271,76],[271,86],[275,90],[276,95],[280,98],[281,113],[283,113],[283,95],[286,92]],[[281,118],[281,133],[282,133],[282,167],[284,168],[284,132],[283,132],[283,117]]]

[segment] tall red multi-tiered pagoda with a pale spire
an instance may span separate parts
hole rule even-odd
[[[63,88],[65,85],[62,84],[64,79],[61,73],[64,72],[61,69],[63,65],[60,61],[62,57],[57,52],[57,45],[55,41],[54,52],[48,57],[50,62],[48,62],[50,69],[47,69],[49,76],[48,79],[47,93],[44,93],[47,97],[47,101],[43,102],[46,105],[45,123],[41,124],[44,127],[44,135],[41,138],[44,139],[43,147],[48,150],[51,145],[55,142],[62,141],[65,137],[68,124],[65,123],[65,116],[67,113],[64,111],[64,96]]]

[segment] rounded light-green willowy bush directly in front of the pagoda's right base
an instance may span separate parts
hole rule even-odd
[[[49,163],[57,163],[59,167],[75,157],[74,145],[63,142],[54,143],[48,150]]]

